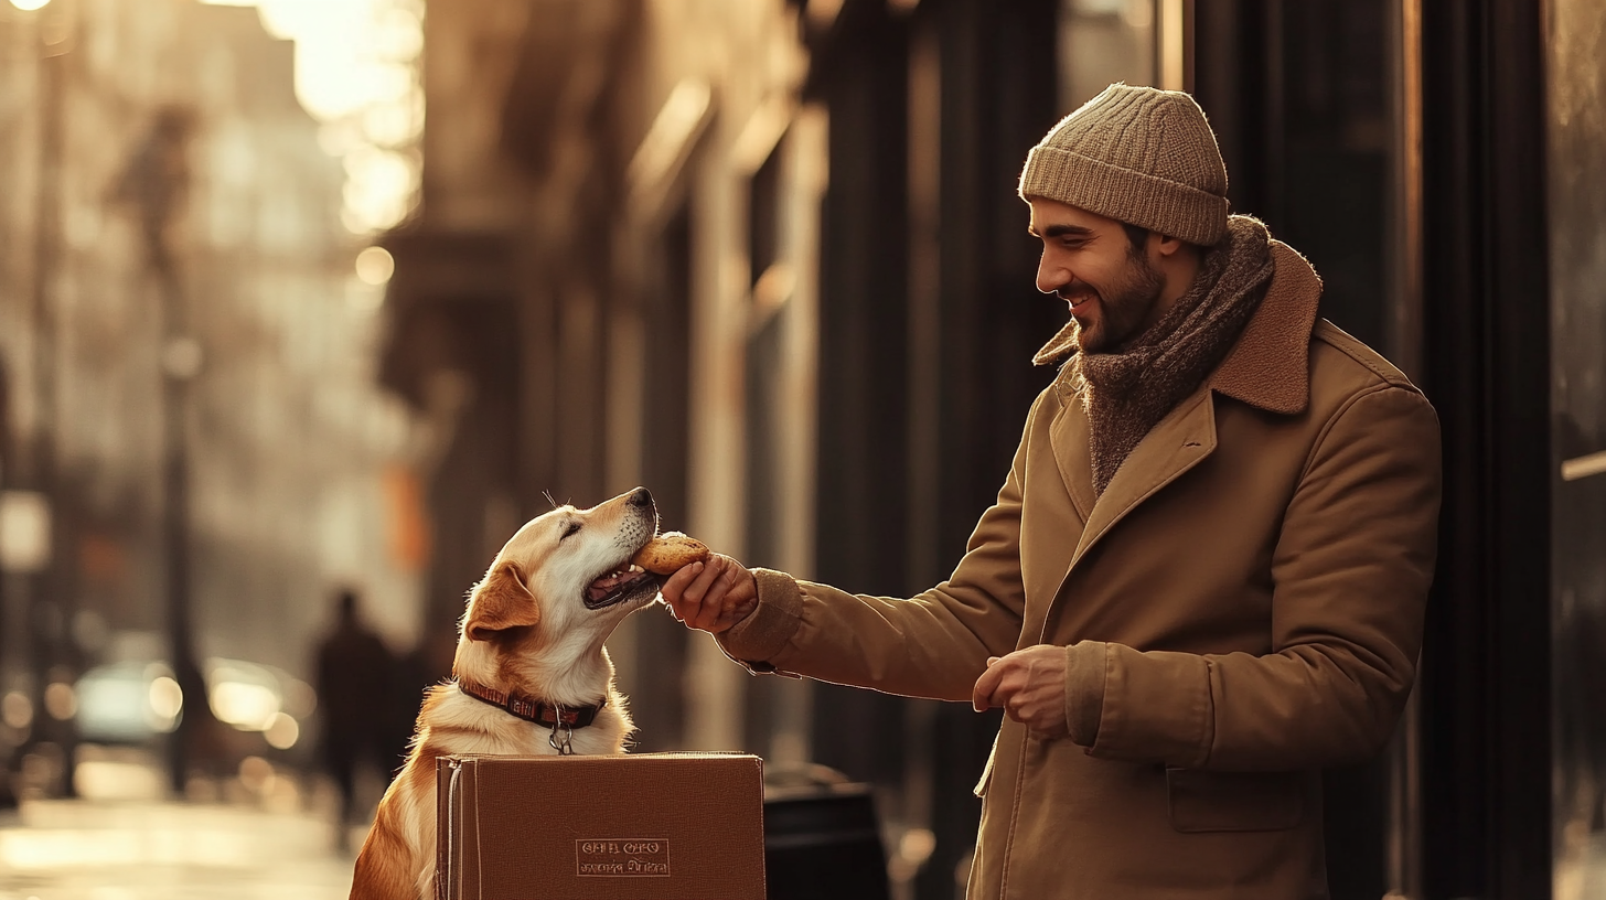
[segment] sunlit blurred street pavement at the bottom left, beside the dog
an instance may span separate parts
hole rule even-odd
[[[0,900],[344,900],[326,804],[270,778],[206,802],[27,800],[0,813]]]

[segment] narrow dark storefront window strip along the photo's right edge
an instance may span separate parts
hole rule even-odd
[[[1606,10],[1550,18],[1555,897],[1606,894]]]

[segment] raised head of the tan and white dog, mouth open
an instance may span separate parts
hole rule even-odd
[[[589,509],[560,506],[525,522],[469,595],[463,638],[601,643],[663,585],[662,575],[630,562],[657,529],[658,511],[646,489]]]

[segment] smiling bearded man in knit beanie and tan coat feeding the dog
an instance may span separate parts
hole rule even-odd
[[[1410,693],[1437,421],[1225,193],[1184,93],[1111,85],[1033,148],[1063,366],[948,582],[713,556],[663,587],[753,670],[1005,709],[972,898],[1327,897],[1320,770]]]

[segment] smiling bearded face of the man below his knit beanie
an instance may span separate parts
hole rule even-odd
[[[1126,228],[1058,201],[1029,198],[1034,238],[1042,241],[1037,289],[1071,307],[1084,354],[1108,354],[1160,318],[1164,278],[1134,248]]]

